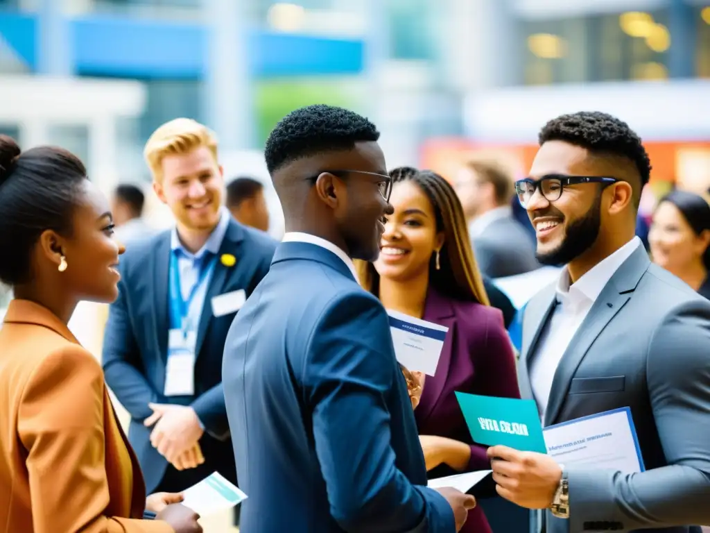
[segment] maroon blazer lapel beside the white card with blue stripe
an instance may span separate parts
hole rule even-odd
[[[415,411],[415,415],[420,421],[427,419],[427,417],[432,414],[437,402],[439,402],[439,398],[442,396],[442,392],[444,392],[453,357],[453,340],[456,336],[456,315],[454,314],[454,309],[451,303],[434,289],[427,291],[427,301],[425,303],[423,319],[444,325],[449,328],[449,331],[447,331],[446,338],[444,338],[444,345],[439,357],[439,363],[437,364],[436,374],[434,376],[427,376],[424,382],[421,405],[417,407]]]

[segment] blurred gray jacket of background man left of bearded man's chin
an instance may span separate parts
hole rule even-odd
[[[525,228],[512,216],[493,220],[481,235],[473,235],[476,263],[489,278],[525,274],[537,269],[535,244]]]

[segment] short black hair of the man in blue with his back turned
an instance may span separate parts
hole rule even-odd
[[[264,156],[270,174],[286,163],[321,152],[351,150],[355,143],[377,141],[372,122],[342,107],[310,105],[290,112],[276,124]]]

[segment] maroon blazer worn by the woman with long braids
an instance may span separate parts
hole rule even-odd
[[[425,321],[445,325],[439,365],[427,376],[420,404],[414,411],[420,435],[453,438],[471,446],[468,470],[491,468],[487,446],[474,443],[454,392],[520,398],[515,355],[503,327],[503,313],[480,303],[448,298],[434,289],[427,292]],[[446,465],[432,470],[430,478],[452,475]],[[486,515],[479,506],[469,512],[464,533],[491,533]]]

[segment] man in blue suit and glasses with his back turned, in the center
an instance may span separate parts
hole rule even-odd
[[[453,532],[475,505],[427,488],[387,313],[356,281],[351,258],[376,259],[392,212],[378,137],[316,105],[267,141],[287,233],[222,367],[243,533]]]

